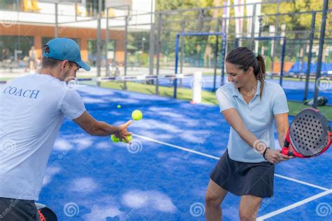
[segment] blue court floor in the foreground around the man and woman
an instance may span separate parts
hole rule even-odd
[[[205,220],[209,173],[228,142],[219,107],[93,86],[78,92],[100,121],[125,123],[134,109],[144,118],[130,126],[132,145],[92,137],[66,120],[39,202],[60,220]],[[332,220],[331,157],[329,149],[277,165],[275,194],[258,220]],[[224,220],[239,220],[239,202],[226,196]]]

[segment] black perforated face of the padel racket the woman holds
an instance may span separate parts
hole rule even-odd
[[[319,154],[328,144],[329,125],[326,117],[314,109],[298,113],[289,127],[289,137],[296,152],[305,157]]]

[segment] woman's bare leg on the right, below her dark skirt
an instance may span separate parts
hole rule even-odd
[[[261,206],[262,198],[253,195],[241,196],[240,201],[240,220],[241,221],[254,221],[256,220],[257,212]]]

